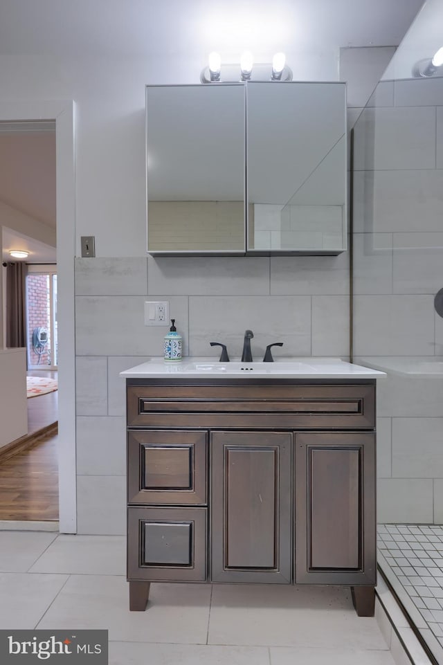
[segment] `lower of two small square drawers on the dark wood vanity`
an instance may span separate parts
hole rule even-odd
[[[205,508],[129,508],[128,579],[206,580]]]

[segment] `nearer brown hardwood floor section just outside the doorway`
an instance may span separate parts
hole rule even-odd
[[[0,464],[0,520],[58,520],[57,439],[43,435]]]

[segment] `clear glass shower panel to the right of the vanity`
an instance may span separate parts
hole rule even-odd
[[[443,662],[443,67],[428,78],[417,69],[442,46],[426,30],[440,19],[442,0],[425,3],[354,125],[352,356],[387,374],[379,565],[411,616],[424,608]]]

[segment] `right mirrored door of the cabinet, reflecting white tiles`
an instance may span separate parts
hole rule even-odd
[[[250,82],[248,250],[346,247],[344,83]]]

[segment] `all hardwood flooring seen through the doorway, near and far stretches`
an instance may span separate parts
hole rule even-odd
[[[28,374],[57,376],[50,370]],[[28,436],[34,437],[0,464],[0,520],[58,520],[58,391],[27,399],[26,408]]]

